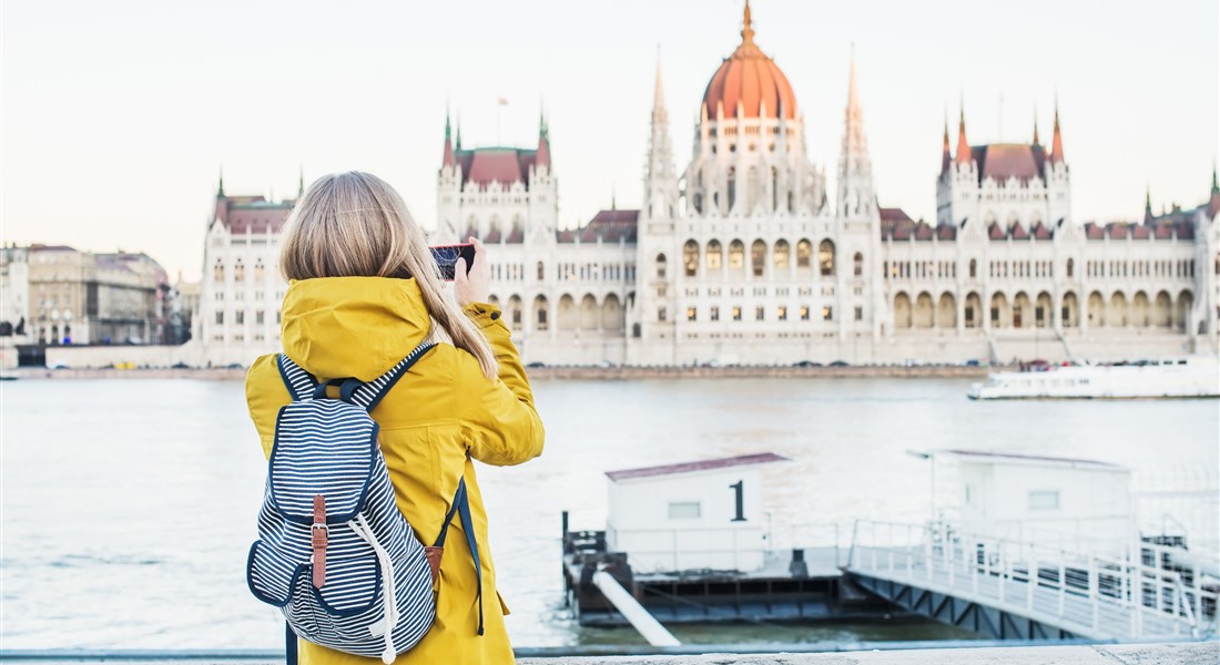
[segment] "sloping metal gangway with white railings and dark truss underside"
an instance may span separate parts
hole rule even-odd
[[[1220,580],[1157,565],[1171,549],[1081,553],[946,522],[856,521],[844,570],[910,611],[996,639],[1214,636]]]

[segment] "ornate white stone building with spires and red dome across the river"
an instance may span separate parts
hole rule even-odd
[[[878,206],[854,65],[832,194],[808,155],[795,96],[753,34],[747,15],[742,45],[709,84],[682,172],[658,71],[644,206],[601,211],[580,229],[558,228],[545,122],[536,149],[462,149],[460,128],[454,143],[447,126],[429,242],[477,235],[488,245],[492,299],[527,362],[1006,362],[1216,351],[1214,176],[1210,200],[1196,210],[1086,225],[1071,210],[1058,112],[1049,150],[1036,128],[1031,144],[972,146],[963,113],[955,151],[944,132],[937,218],[916,222]],[[732,72],[738,60],[758,65],[762,73],[750,83],[761,93],[728,88],[741,81]],[[195,339],[214,365],[278,348],[276,232],[289,207],[218,198],[195,317]],[[260,223],[264,214],[281,222]],[[226,216],[248,221],[234,226]]]

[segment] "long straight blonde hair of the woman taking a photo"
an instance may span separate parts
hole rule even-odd
[[[288,217],[279,249],[285,279],[317,277],[415,277],[423,305],[454,347],[495,378],[492,345],[444,287],[423,229],[386,181],[349,171],[318,178]],[[405,351],[404,351],[405,355]]]

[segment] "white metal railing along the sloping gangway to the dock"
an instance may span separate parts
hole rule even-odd
[[[1214,587],[1199,575],[1187,586],[1177,572],[1139,560],[967,533],[944,522],[858,521],[848,567],[1097,638],[1199,637],[1216,606]]]

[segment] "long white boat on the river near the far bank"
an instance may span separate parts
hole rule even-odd
[[[970,399],[1138,399],[1220,397],[1215,356],[1139,360],[1121,365],[1035,366],[975,383]]]

